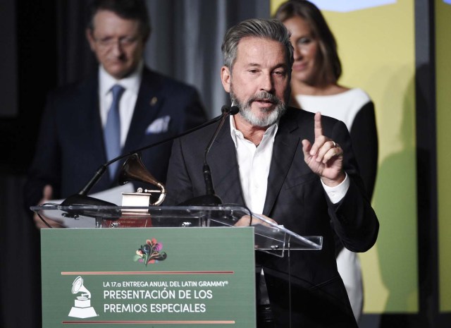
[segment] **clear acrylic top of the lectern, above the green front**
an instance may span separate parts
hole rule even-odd
[[[44,204],[30,209],[44,222],[51,219],[67,228],[233,227],[242,216],[250,215],[264,221],[264,224],[252,224],[256,250],[283,257],[285,250],[321,250],[323,243],[321,236],[299,236],[239,205],[121,207]]]

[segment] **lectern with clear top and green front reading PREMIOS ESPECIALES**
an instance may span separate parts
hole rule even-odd
[[[245,207],[31,207],[42,229],[43,327],[256,327],[254,250],[321,250]],[[234,227],[243,216],[264,224]]]

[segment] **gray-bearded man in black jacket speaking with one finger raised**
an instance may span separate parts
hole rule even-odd
[[[224,203],[246,205],[302,236],[323,236],[322,250],[293,250],[283,258],[257,253],[273,315],[273,326],[264,327],[357,327],[337,271],[333,231],[345,247],[363,252],[376,242],[378,219],[345,124],[285,106],[292,51],[290,33],[274,20],[245,20],[227,32],[221,80],[240,113],[218,133],[208,163]],[[204,150],[215,128],[174,143],[168,205],[205,194]],[[243,217],[236,225],[249,223]]]

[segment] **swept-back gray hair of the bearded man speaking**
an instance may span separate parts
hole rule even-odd
[[[224,36],[221,50],[223,51],[224,66],[232,71],[232,66],[237,59],[237,48],[244,37],[261,37],[280,42],[285,47],[287,67],[293,64],[293,47],[290,42],[290,31],[279,20],[273,19],[248,19],[230,28]]]

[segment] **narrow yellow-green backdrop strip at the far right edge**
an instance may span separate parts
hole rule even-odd
[[[451,5],[435,1],[440,311],[451,311]]]

